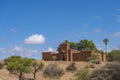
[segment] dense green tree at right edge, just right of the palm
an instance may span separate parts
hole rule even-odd
[[[108,61],[120,61],[120,50],[112,50],[107,54]]]

